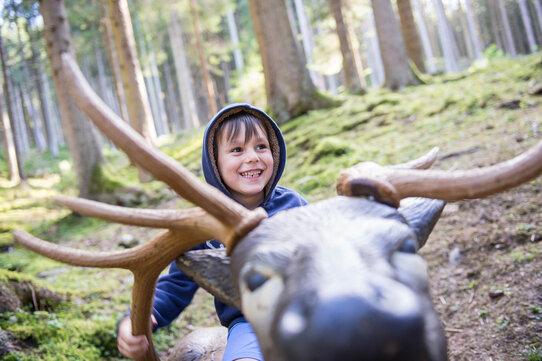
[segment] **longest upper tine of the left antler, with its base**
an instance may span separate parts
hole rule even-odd
[[[139,166],[229,226],[226,234],[215,235],[226,244],[229,251],[239,239],[266,218],[263,209],[250,211],[244,208],[216,188],[201,182],[174,159],[147,144],[96,95],[72,55],[62,54],[62,66],[77,105],[109,139]]]

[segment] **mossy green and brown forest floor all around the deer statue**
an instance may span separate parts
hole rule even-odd
[[[282,184],[315,202],[333,196],[338,172],[349,165],[399,163],[437,145],[439,169],[510,159],[542,140],[541,89],[542,62],[532,56],[494,59],[399,93],[346,97],[340,107],[282,126],[289,154]],[[198,131],[162,149],[201,175],[200,143]],[[128,187],[124,190],[139,189],[136,195],[125,192],[131,194],[127,203],[186,206],[158,182],[137,186],[136,172],[122,155],[108,153],[106,159],[110,174]],[[70,215],[47,199],[73,194],[73,174],[57,165],[48,171],[32,167],[25,187],[9,185],[0,169],[0,295],[2,287],[18,280],[34,291],[45,287],[67,295],[69,301],[40,307],[30,298],[19,308],[0,309],[0,360],[118,360],[115,324],[129,305],[131,275],[48,261],[14,246],[9,232],[23,228],[63,245],[115,250],[159,231]],[[451,361],[542,359],[540,209],[540,177],[498,195],[446,206],[421,254]],[[165,356],[179,335],[217,324],[211,297],[198,291],[183,315],[154,340]]]

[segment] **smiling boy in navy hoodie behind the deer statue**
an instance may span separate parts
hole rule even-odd
[[[205,130],[202,149],[207,183],[249,209],[263,207],[269,217],[278,211],[306,205],[298,193],[277,185],[286,163],[286,145],[275,122],[260,109],[233,104],[222,109]],[[193,249],[221,248],[216,240]],[[169,325],[190,304],[198,285],[175,262],[156,286],[153,307],[155,329]],[[240,310],[215,299],[220,323],[228,327],[223,361],[263,361],[256,335]],[[118,328],[118,348],[129,358],[141,357],[145,336],[133,336],[129,318]]]

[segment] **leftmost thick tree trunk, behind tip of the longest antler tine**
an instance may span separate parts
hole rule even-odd
[[[75,55],[64,2],[40,1],[47,54],[53,72],[57,100],[68,147],[78,179],[79,197],[92,198],[92,179],[101,161],[101,151],[90,122],[77,108],[63,79],[60,55]]]

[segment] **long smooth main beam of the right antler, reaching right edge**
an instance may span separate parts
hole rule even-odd
[[[401,199],[427,197],[445,201],[485,197],[516,187],[542,173],[542,141],[508,161],[479,169],[443,171],[382,167],[360,163],[343,171],[337,192],[373,196],[398,207]]]

